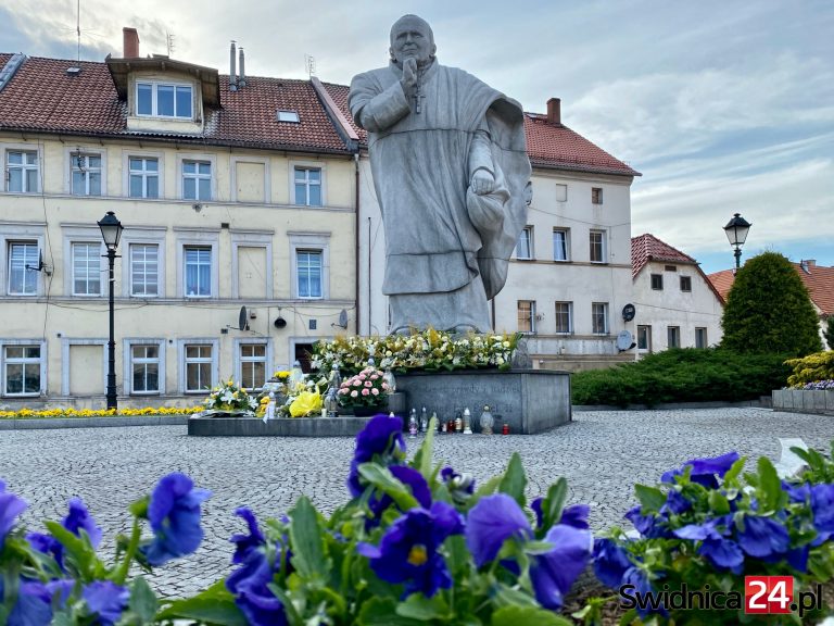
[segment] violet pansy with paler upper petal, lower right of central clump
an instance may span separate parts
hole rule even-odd
[[[544,540],[553,543],[553,550],[533,556],[530,580],[539,603],[557,611],[591,559],[593,538],[590,530],[557,524],[547,531]]]

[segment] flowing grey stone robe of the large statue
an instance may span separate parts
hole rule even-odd
[[[523,112],[437,61],[420,71],[418,97],[403,91],[401,76],[393,62],[359,74],[348,99],[368,132],[386,228],[382,292],[390,297],[391,328],[486,331],[488,299],[503,288],[527,223]],[[495,178],[485,196],[469,188],[481,167]]]

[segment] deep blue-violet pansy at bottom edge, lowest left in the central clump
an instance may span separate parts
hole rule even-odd
[[[235,604],[255,626],[286,626],[283,604],[269,590],[275,572],[280,568],[280,551],[275,564],[258,549],[250,550],[242,565],[229,574],[226,588],[235,596]]]

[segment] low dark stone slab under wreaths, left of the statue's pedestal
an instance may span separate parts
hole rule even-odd
[[[202,417],[188,421],[198,437],[355,437],[370,417],[281,417],[264,424],[256,417]]]

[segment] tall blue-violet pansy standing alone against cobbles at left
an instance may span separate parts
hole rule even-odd
[[[151,565],[163,565],[197,550],[203,538],[200,503],[210,496],[211,491],[194,488],[185,474],[168,474],[160,480],[148,506],[154,537],[141,549]]]

